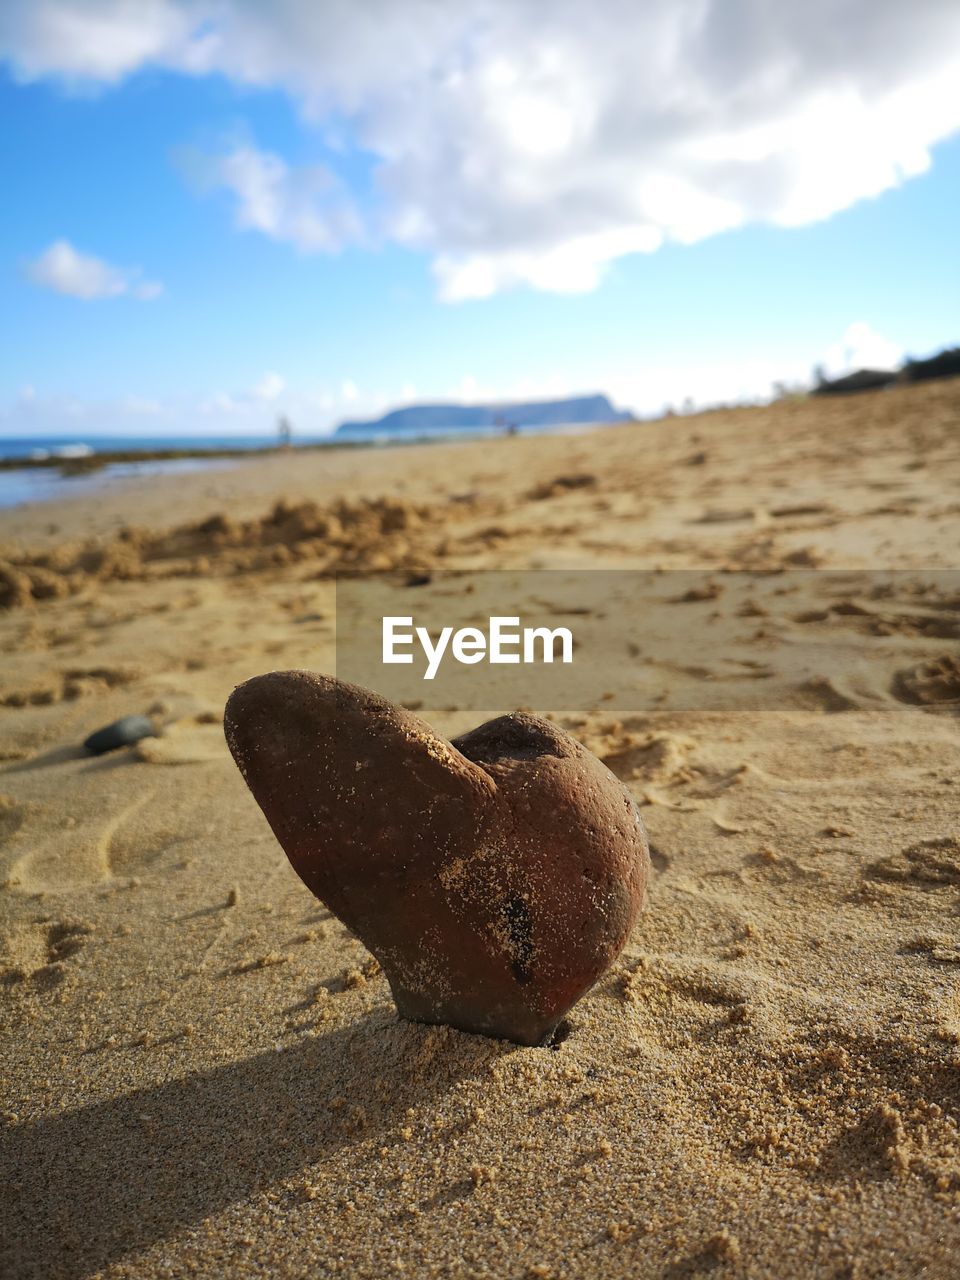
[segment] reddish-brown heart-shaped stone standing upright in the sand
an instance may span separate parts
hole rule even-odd
[[[380,961],[403,1018],[539,1044],[608,968],[649,852],[626,787],[549,721],[447,742],[307,671],[232,694],[233,758],[294,870]]]

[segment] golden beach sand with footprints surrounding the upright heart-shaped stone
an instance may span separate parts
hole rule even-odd
[[[956,1276],[957,428],[943,381],[4,513],[0,1271]],[[398,1021],[229,758],[237,682],[332,669],[352,567],[698,570],[662,609],[730,602],[774,689],[698,707],[707,649],[554,709],[654,876],[553,1050]],[[128,713],[160,736],[82,753]]]

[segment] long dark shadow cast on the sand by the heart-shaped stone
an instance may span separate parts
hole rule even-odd
[[[4,1130],[0,1274],[100,1271],[376,1137],[515,1048],[445,1034],[435,1053],[436,1029],[375,1010],[284,1051]]]

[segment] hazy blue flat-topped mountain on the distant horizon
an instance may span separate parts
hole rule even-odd
[[[567,426],[576,422],[626,422],[632,413],[616,410],[605,396],[520,404],[410,404],[370,422],[342,422],[337,435],[438,431],[454,428]]]

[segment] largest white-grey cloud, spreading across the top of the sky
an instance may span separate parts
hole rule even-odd
[[[346,122],[379,157],[378,236],[430,253],[452,301],[591,289],[666,241],[827,218],[960,128],[948,0],[6,0],[4,49],[22,79],[218,73],[328,138]],[[209,168],[243,227],[362,238],[325,169],[253,146]]]

